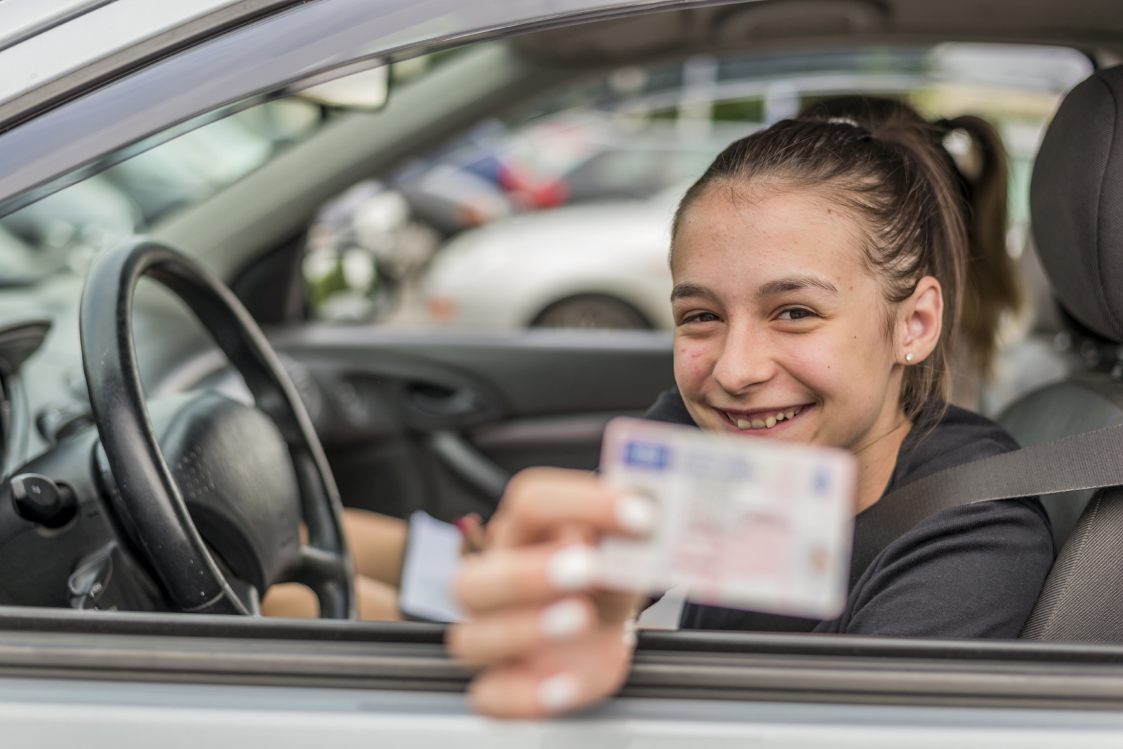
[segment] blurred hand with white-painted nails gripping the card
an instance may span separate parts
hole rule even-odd
[[[640,595],[595,588],[603,534],[655,527],[646,499],[584,471],[529,469],[508,484],[487,551],[465,561],[456,594],[468,620],[448,631],[451,654],[484,671],[476,709],[504,718],[574,710],[613,694],[634,648]]]

